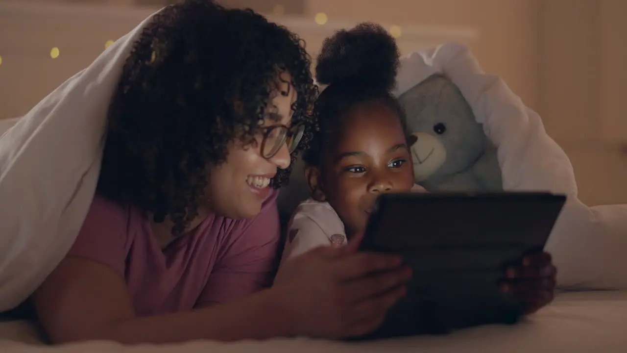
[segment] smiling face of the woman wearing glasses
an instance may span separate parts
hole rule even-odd
[[[263,127],[278,124],[291,126],[292,104],[297,97],[289,82],[292,82],[290,75],[282,73],[277,82],[277,92],[268,104],[269,118],[263,122]],[[261,155],[262,140],[260,133],[253,144],[245,146],[238,140],[229,144],[226,161],[209,171],[209,183],[205,190],[209,199],[202,209],[232,219],[251,218],[260,212],[261,204],[270,192],[270,179],[277,174],[277,168],[290,166],[287,144],[266,159]]]

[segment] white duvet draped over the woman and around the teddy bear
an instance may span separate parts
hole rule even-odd
[[[110,97],[150,18],[0,138],[0,312],[26,300],[75,241],[97,185]],[[559,284],[627,288],[627,206],[590,209],[579,202],[571,164],[540,117],[502,80],[483,73],[463,46],[446,44],[402,58],[396,93],[438,71],[460,87],[498,147],[505,190],[569,195],[547,244]]]

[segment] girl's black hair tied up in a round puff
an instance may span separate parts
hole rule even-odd
[[[319,166],[325,148],[333,148],[342,118],[361,104],[383,104],[398,116],[407,133],[405,113],[391,90],[396,84],[399,50],[394,38],[374,23],[340,30],[322,44],[316,80],[328,85],[314,107],[317,128],[303,155],[308,166]]]

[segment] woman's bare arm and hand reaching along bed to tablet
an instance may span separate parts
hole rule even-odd
[[[345,248],[320,247],[290,264],[294,266],[283,271],[279,285],[238,300],[135,317],[118,273],[70,256],[34,293],[33,302],[41,325],[57,344],[342,338],[367,334],[380,325],[387,309],[404,295],[403,285],[411,276],[396,256]]]

